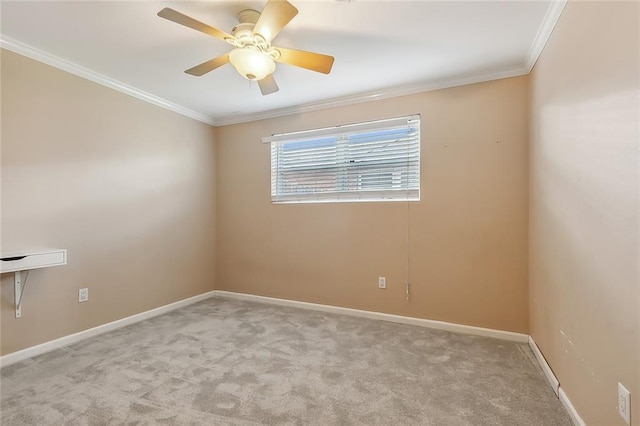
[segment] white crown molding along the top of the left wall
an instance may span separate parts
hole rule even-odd
[[[99,74],[81,65],[67,61],[66,59],[62,59],[40,49],[36,49],[33,46],[14,40],[10,37],[0,35],[0,47],[6,50],[10,50],[19,55],[26,56],[27,58],[31,58],[38,62],[50,65],[54,68],[58,68],[62,71],[77,75],[78,77],[93,81],[94,83],[98,83],[102,86],[106,86],[119,92],[125,93],[129,96],[133,96],[134,98],[149,102],[150,104],[168,109],[169,111],[173,111],[186,117],[193,118],[194,120],[198,120],[211,126],[215,126],[215,121],[205,114],[201,114],[199,112],[190,110],[178,104],[174,104],[173,102],[162,99],[158,96],[152,95],[151,93],[136,89],[133,86],[129,86],[111,77],[107,77],[106,75]]]

